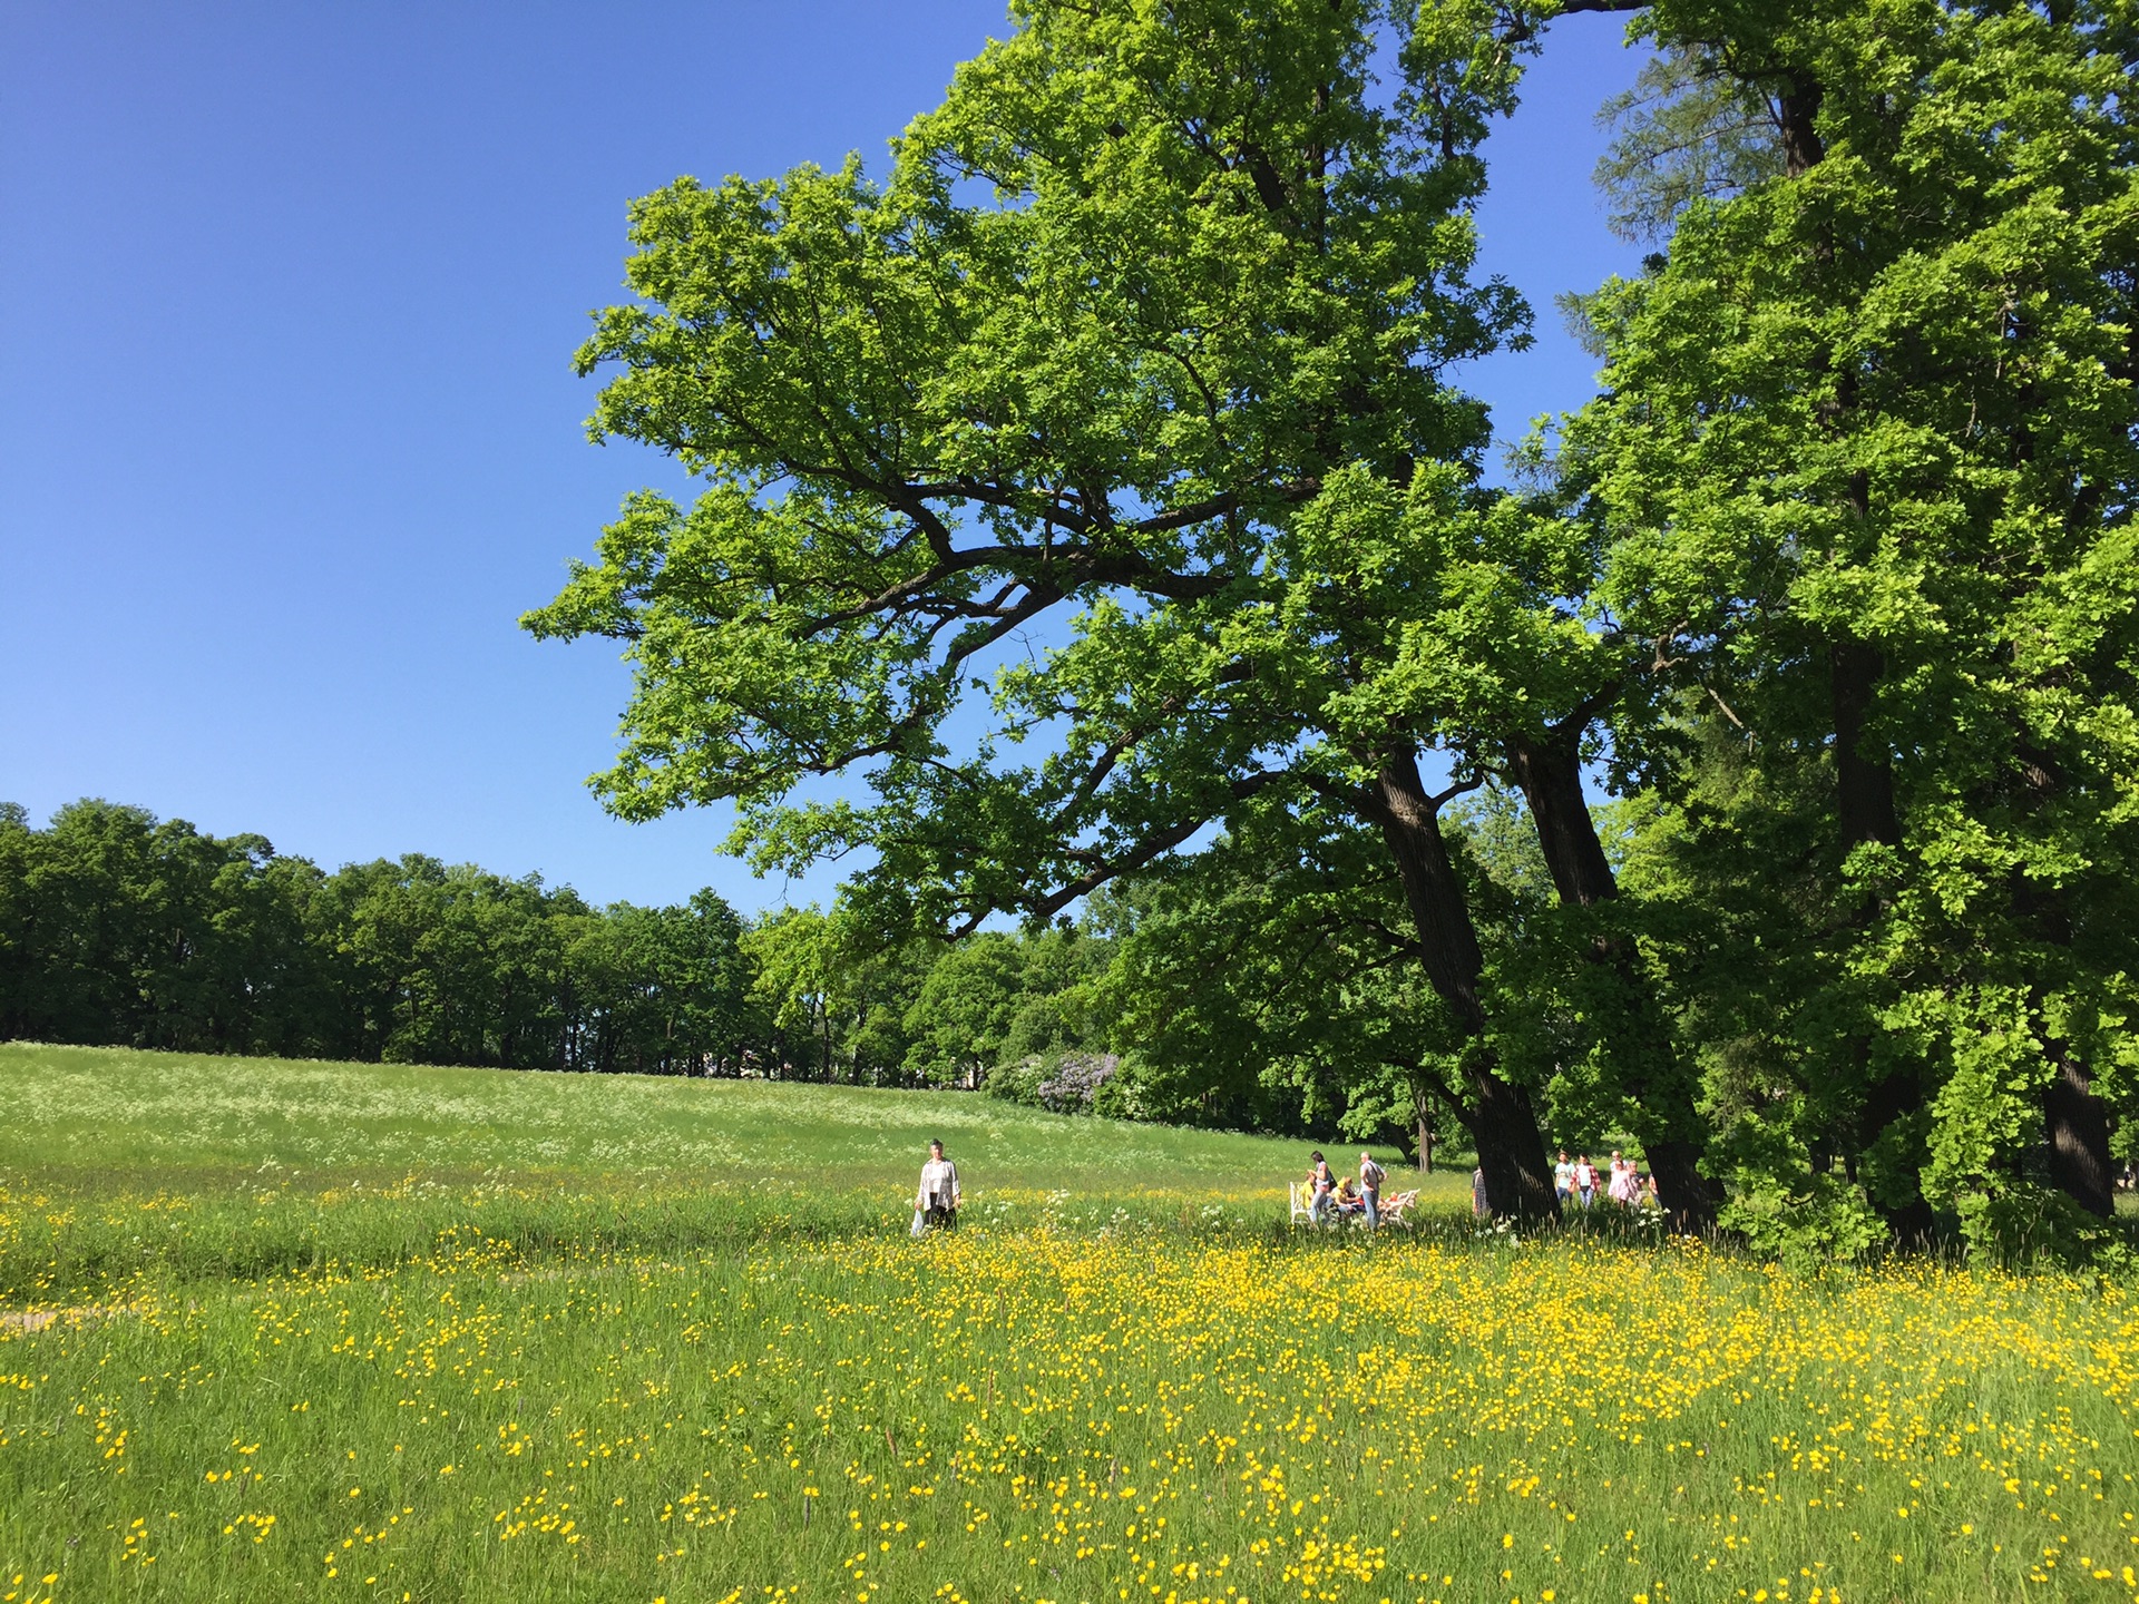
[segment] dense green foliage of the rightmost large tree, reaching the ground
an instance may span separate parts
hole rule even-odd
[[[1840,1153],[1989,1245],[2028,1210],[1987,1200],[2045,1181],[2107,1206],[2053,1082],[2139,1091],[2128,17],[1748,17],[1653,26],[1795,96],[1792,173],[1688,203],[1606,289],[1609,394],[1568,430],[1604,595],[1698,731],[1636,858],[1737,954],[1671,969],[1741,1185],[1810,1159],[1818,1191]],[[2056,1170],[2090,1144],[2096,1178]]]

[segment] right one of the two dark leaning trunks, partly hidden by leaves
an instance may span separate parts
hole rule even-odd
[[[1589,800],[1583,796],[1581,731],[1559,729],[1546,740],[1517,736],[1506,742],[1508,770],[1529,804],[1538,849],[1564,905],[1594,907],[1619,896],[1604,843],[1598,840]],[[1621,1084],[1641,1110],[1641,1151],[1656,1176],[1656,1198],[1673,1230],[1701,1232],[1715,1223],[1715,1189],[1701,1174],[1701,1114],[1662,1005],[1636,965],[1632,945],[1617,935],[1600,935],[1591,962],[1611,969],[1626,1009],[1615,1018],[1611,1044]],[[1656,1065],[1662,1074],[1651,1071]]]

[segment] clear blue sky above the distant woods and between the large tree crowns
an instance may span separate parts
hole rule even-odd
[[[584,787],[627,680],[515,627],[661,458],[593,447],[569,357],[625,201],[877,160],[1001,4],[0,0],[0,800],[79,796],[327,866],[428,851],[595,900],[757,881],[719,813]],[[1551,297],[1632,267],[1589,190],[1615,17],[1551,28],[1489,150],[1484,267],[1538,346],[1467,374],[1521,434],[1589,394]]]

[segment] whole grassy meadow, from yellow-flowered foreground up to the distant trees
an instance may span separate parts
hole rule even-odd
[[[2139,1311],[978,1097],[0,1046],[0,1604],[2130,1600]],[[941,1133],[954,1236],[905,1236]]]

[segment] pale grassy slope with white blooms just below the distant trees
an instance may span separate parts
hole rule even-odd
[[[1275,1189],[1307,1144],[1044,1114],[971,1093],[569,1076],[0,1044],[0,1170],[809,1176],[918,1172],[941,1138],[971,1185]]]

